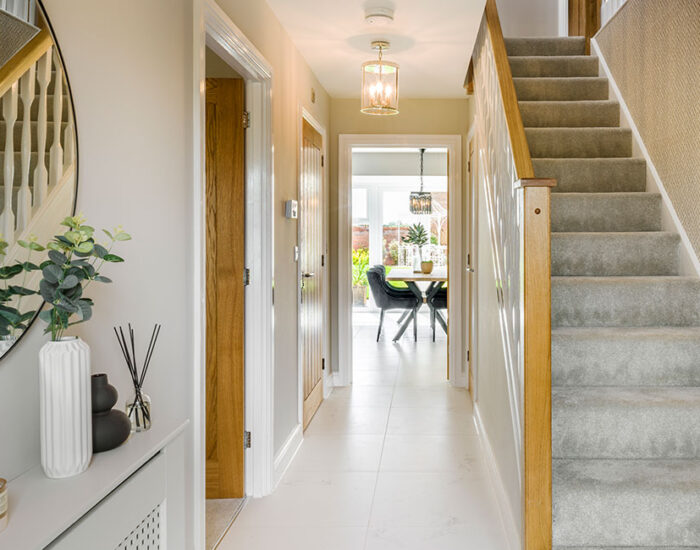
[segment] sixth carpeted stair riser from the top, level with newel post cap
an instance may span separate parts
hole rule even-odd
[[[554,193],[640,192],[646,189],[642,159],[532,159],[535,176],[555,178]]]

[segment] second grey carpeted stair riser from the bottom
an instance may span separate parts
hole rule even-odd
[[[700,388],[553,388],[554,458],[700,457]]]

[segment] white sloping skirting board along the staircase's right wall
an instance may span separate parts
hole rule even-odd
[[[619,11],[617,12],[619,13]],[[600,46],[595,38],[591,39],[591,55],[598,57],[598,66],[600,76],[604,76],[608,79],[610,85],[610,94],[612,97],[620,104],[620,126],[623,128],[629,128],[632,132],[632,153],[634,156],[642,157],[647,163],[647,191],[659,193],[661,195],[661,223],[664,231],[676,231],[681,237],[681,274],[682,275],[698,275],[700,276],[700,261],[698,260],[695,251],[693,250],[693,245],[690,244],[690,239],[688,234],[681,223],[676,209],[671,202],[671,198],[668,196],[666,188],[664,187],[659,173],[654,166],[654,162],[649,156],[649,151],[647,151],[644,141],[642,140],[642,135],[639,133],[637,125],[634,123],[632,114],[630,113],[627,103],[625,103],[620,88],[617,86],[617,82],[613,78],[610,72],[610,67],[608,67],[603,53],[600,51]]]

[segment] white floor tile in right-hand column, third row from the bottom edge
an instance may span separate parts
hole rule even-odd
[[[387,435],[381,472],[467,472],[482,475],[476,435]]]

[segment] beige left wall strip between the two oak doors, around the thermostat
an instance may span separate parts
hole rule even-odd
[[[328,129],[328,94],[264,0],[217,0],[272,65],[272,138],[275,176],[275,452],[297,423],[297,222],[284,201],[297,199],[300,106]],[[311,103],[311,89],[316,102]]]

